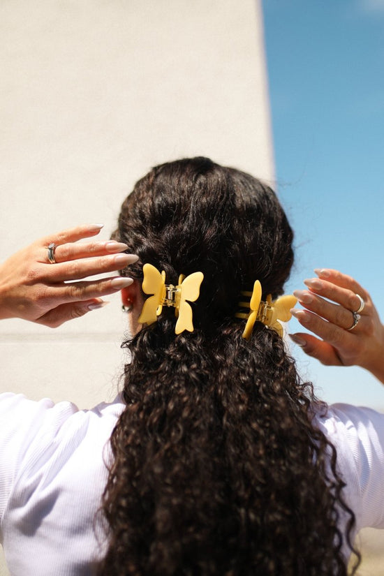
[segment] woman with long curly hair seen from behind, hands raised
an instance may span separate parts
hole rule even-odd
[[[113,404],[0,397],[12,574],[346,575],[355,531],[384,527],[383,417],[327,411],[297,375],[273,316],[282,301],[271,304],[293,263],[274,193],[207,158],[158,166],[121,208],[110,246],[138,256],[120,259],[121,283],[63,284],[80,263],[80,277],[118,264],[105,246],[92,245],[95,261],[73,244],[96,232],[50,237],[0,269],[3,317],[59,325],[119,288],[132,334]],[[295,315],[323,338],[294,335],[304,350],[381,377],[383,326],[365,290],[323,270],[298,297],[307,311]]]

